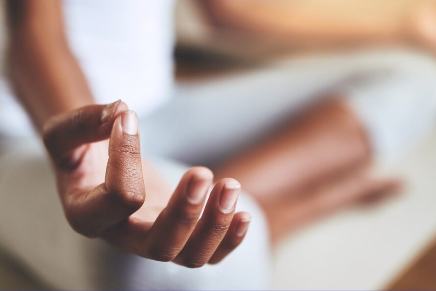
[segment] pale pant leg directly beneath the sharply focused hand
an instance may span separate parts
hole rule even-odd
[[[37,140],[3,148],[0,156],[0,246],[55,289],[257,290],[268,286],[269,245],[263,214],[241,195],[238,208],[252,213],[244,242],[221,264],[188,269],[119,254],[100,239],[76,234],[66,222],[49,162]],[[176,185],[184,166],[158,161]]]

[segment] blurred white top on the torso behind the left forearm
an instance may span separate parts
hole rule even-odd
[[[63,1],[67,38],[97,103],[122,99],[143,115],[170,96],[173,4],[173,0]],[[0,135],[31,132],[26,112],[14,99],[2,74]]]

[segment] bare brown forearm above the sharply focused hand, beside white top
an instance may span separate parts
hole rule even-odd
[[[11,15],[8,7],[8,73],[16,96],[41,130],[50,116],[89,105],[93,98],[68,48],[58,2],[21,4],[19,15]]]

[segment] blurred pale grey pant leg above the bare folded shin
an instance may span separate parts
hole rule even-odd
[[[361,86],[350,86],[356,79]],[[303,106],[345,91],[379,158],[402,152],[407,138],[410,143],[416,133],[429,132],[435,124],[435,90],[435,61],[418,53],[298,57],[179,86],[170,103],[143,119],[142,146],[191,164],[213,164],[267,137]]]

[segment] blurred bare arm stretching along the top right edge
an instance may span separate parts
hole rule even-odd
[[[422,37],[428,28],[423,22],[436,22],[435,5],[425,1],[198,2],[217,26],[276,36],[300,47],[414,42],[414,37]]]

